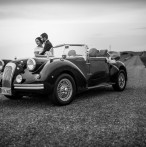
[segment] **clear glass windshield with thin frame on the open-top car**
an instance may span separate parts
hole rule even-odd
[[[54,57],[60,58],[62,55],[66,55],[66,57],[86,57],[86,47],[82,45],[63,45],[53,48]]]

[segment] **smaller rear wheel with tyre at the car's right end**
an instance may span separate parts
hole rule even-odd
[[[120,70],[116,78],[116,83],[113,86],[113,89],[116,91],[123,91],[126,87],[126,73],[124,70]]]

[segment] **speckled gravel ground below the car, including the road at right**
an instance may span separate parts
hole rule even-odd
[[[146,146],[146,69],[138,56],[125,64],[123,92],[93,89],[63,107],[0,96],[0,147]]]

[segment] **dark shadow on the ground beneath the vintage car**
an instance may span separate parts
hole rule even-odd
[[[108,97],[107,95],[113,94],[115,91],[112,87],[100,87],[95,89],[87,90],[83,93],[77,94],[70,105],[78,104],[79,102],[88,100],[88,99],[100,99],[103,97]],[[0,95],[0,105],[8,107],[59,107],[52,104],[49,97],[44,98],[40,96],[36,97],[23,97],[19,100],[10,100],[6,97]],[[68,105],[69,106],[69,105]]]

